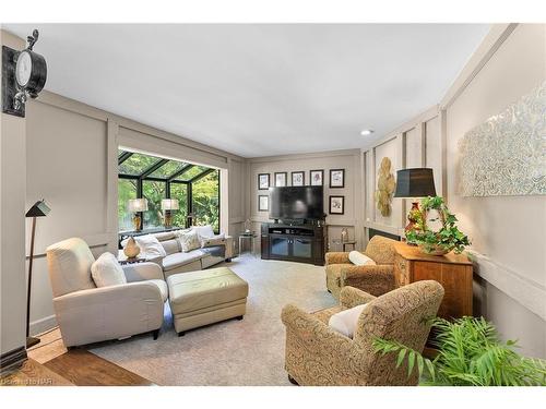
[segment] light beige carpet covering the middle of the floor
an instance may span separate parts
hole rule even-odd
[[[324,267],[262,261],[250,255],[227,264],[249,284],[247,315],[178,337],[166,309],[159,338],[136,336],[90,350],[158,385],[289,385],[284,371],[281,310],[335,304]]]

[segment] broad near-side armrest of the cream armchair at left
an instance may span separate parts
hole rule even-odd
[[[163,323],[163,298],[154,282],[74,291],[54,299],[67,347],[116,339],[157,329]]]

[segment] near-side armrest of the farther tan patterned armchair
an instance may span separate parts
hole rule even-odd
[[[342,287],[351,286],[379,297],[394,289],[394,266],[347,265],[341,270]]]

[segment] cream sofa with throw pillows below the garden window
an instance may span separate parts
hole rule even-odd
[[[215,245],[195,249],[185,253],[177,239],[180,230],[151,234],[159,241],[167,254],[165,257],[150,260],[162,267],[165,279],[173,274],[195,272],[232,260],[234,241],[230,236],[225,236],[224,239],[218,240],[218,243]],[[189,230],[195,230],[202,237],[214,237],[214,231],[211,226],[193,226]],[[120,250],[120,258],[122,257],[123,251]]]

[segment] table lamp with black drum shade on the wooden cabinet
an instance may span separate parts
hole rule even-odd
[[[407,213],[408,224],[404,228],[407,233],[417,221],[415,215],[420,213],[417,197],[436,196],[435,178],[430,168],[411,168],[396,171],[396,192],[394,197],[413,199],[412,208]]]

